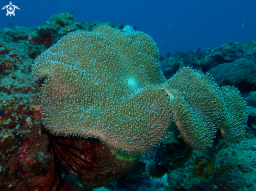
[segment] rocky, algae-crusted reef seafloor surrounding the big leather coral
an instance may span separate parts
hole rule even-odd
[[[56,141],[41,123],[43,81],[34,78],[31,65],[68,32],[92,31],[100,25],[124,29],[123,25],[80,22],[72,13],[61,13],[36,28],[0,30],[1,190],[256,190],[256,41],[226,42],[207,51],[160,57],[166,79],[189,66],[208,72],[219,86],[239,89],[248,114],[246,137],[239,144],[228,143],[218,132],[214,146],[199,152],[172,129],[132,170],[101,188],[84,188],[77,174],[58,163],[56,155],[61,154],[49,148]],[[59,148],[66,154],[62,162],[71,164],[69,151]]]

